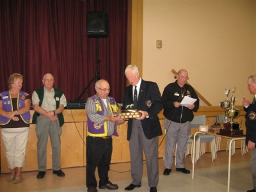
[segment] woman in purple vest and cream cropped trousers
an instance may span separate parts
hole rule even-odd
[[[21,182],[21,169],[25,164],[28,141],[30,104],[29,94],[20,91],[23,76],[12,74],[9,77],[9,90],[0,93],[0,127],[11,175],[9,182]]]

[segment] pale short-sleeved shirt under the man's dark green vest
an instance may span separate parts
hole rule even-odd
[[[54,98],[54,95],[54,88],[48,92],[48,90],[44,87],[44,100],[41,106],[42,109],[45,109],[46,111],[56,110],[56,99],[60,99],[60,105],[63,105],[64,107],[67,106],[67,99],[64,94],[61,96],[61,98]],[[33,105],[40,102],[40,99],[35,91],[32,95],[32,101]]]

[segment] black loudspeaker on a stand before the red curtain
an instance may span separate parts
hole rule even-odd
[[[86,35],[89,37],[108,37],[108,13],[87,12],[86,13]]]

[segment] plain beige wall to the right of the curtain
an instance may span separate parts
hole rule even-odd
[[[163,93],[175,81],[172,69],[186,68],[188,83],[213,106],[225,100],[226,87],[236,86],[237,105],[243,96],[252,99],[247,78],[255,74],[254,0],[144,0],[142,10],[143,79],[156,81]]]

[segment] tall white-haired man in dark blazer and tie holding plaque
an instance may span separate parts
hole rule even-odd
[[[127,140],[131,156],[132,183],[125,190],[131,191],[141,186],[144,151],[148,186],[150,192],[156,192],[159,180],[158,136],[163,134],[157,116],[163,109],[161,93],[156,83],[140,78],[140,72],[135,65],[128,65],[125,68],[125,76],[131,85],[124,90],[122,109],[133,106],[133,109],[141,113],[141,117],[128,120]]]

